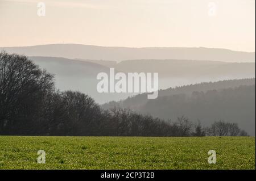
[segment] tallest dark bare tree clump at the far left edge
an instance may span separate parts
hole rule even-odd
[[[53,75],[26,56],[0,53],[0,133],[21,132],[39,115]],[[15,125],[15,126],[14,126]]]

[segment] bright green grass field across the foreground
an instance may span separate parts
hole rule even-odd
[[[255,137],[0,136],[0,169],[255,169]]]

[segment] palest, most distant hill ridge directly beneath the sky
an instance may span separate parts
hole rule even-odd
[[[175,59],[211,60],[225,62],[255,62],[255,52],[237,52],[220,48],[127,48],[100,47],[81,44],[49,44],[31,47],[2,47],[9,53],[27,56],[49,56],[90,60],[135,60],[135,59]]]

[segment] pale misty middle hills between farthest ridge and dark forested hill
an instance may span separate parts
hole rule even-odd
[[[126,99],[136,93],[98,93],[97,74],[109,74],[109,64],[103,61],[80,61],[60,57],[30,57],[41,68],[55,74],[56,86],[60,90],[79,90],[92,96],[97,103]],[[147,63],[146,63],[147,62]],[[255,63],[226,63],[217,61],[189,60],[131,60],[111,66],[115,73],[156,72],[159,73],[159,89],[190,85],[192,83],[255,77]]]

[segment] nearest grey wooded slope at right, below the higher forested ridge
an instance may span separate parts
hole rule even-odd
[[[192,121],[200,120],[203,125],[224,120],[238,123],[255,136],[255,85],[161,96],[149,100],[138,111],[166,120],[185,115]]]

